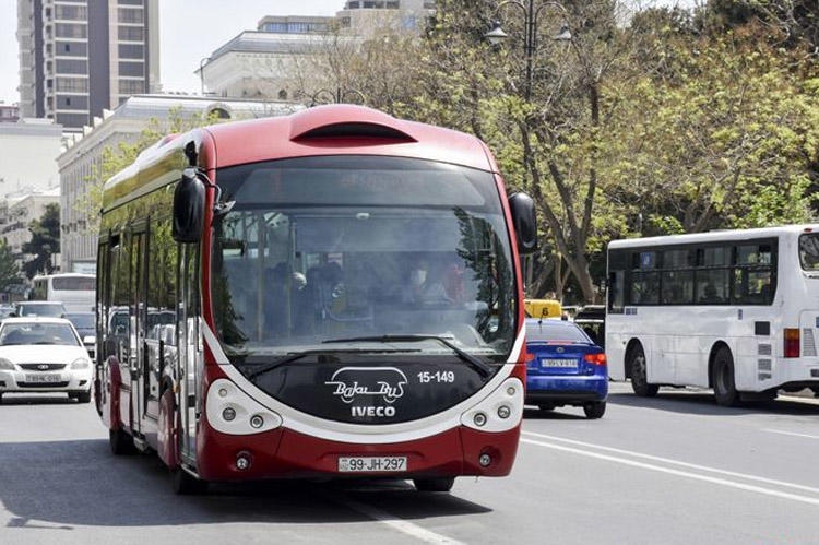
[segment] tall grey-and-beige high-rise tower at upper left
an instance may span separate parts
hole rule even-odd
[[[158,0],[17,0],[20,110],[81,130],[159,90]]]

